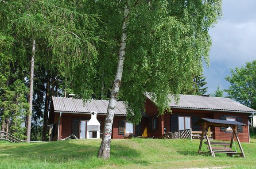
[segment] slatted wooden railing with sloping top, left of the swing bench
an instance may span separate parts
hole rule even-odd
[[[181,139],[181,138],[190,138],[192,139],[192,129],[173,131],[170,133],[163,134],[163,139]]]

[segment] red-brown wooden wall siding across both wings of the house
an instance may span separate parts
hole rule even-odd
[[[193,131],[202,131],[202,126],[194,126],[193,124],[199,118],[210,118],[210,119],[220,119],[221,116],[236,116],[243,119],[244,124],[248,125],[248,114],[246,113],[231,113],[231,112],[221,112],[221,111],[202,111],[202,110],[187,110],[187,109],[179,109],[172,108],[171,114],[164,114],[158,116],[158,111],[155,105],[151,102],[151,100],[147,99],[145,103],[146,114],[148,117],[143,117],[141,121],[141,132],[144,132],[145,127],[147,127],[147,134],[149,137],[160,138],[164,134],[164,127],[167,128],[167,132],[177,131],[178,130],[178,116],[191,116],[191,125]],[[149,119],[158,116],[158,127],[156,130],[149,130]],[[54,113],[54,123],[57,123],[56,127],[58,130],[58,118],[59,113]],[[60,138],[66,138],[71,134],[71,126],[72,119],[80,119],[80,120],[89,120],[91,115],[79,115],[79,114],[67,114],[62,113],[62,118],[60,121]],[[113,126],[112,126],[112,138],[124,138],[127,137],[127,134],[119,134],[119,121],[125,120],[125,116],[114,116]],[[97,115],[97,119],[101,121],[101,132],[103,132],[105,115]],[[135,133],[134,127],[134,133]],[[213,138],[217,140],[229,141],[231,138],[231,133],[220,131],[219,127],[211,127],[211,131],[213,131]],[[58,133],[58,131],[57,131]],[[136,133],[135,133],[136,134]],[[249,142],[248,136],[248,126],[243,127],[243,132],[238,133],[238,137],[241,142]],[[53,141],[56,141],[58,136],[56,135],[53,138]]]

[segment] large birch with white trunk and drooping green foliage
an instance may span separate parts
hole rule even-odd
[[[178,100],[184,84],[192,85],[190,74],[202,73],[202,61],[209,62],[208,29],[221,16],[221,1],[98,0],[88,6],[92,7],[88,11],[100,15],[103,22],[99,29],[104,30],[105,46],[100,42],[98,50],[99,60],[104,64],[96,68],[101,72],[98,77],[102,69],[112,70],[116,66],[115,74],[109,76],[114,79],[112,82],[103,77],[104,86],[112,86],[98,152],[98,157],[106,159],[110,156],[118,93],[122,93],[120,99],[126,103],[128,120],[134,123],[142,118],[145,92],[152,96],[160,115],[169,109],[168,95],[174,94]],[[103,53],[111,59],[101,59],[105,57]],[[100,87],[99,84],[96,91],[102,91]]]

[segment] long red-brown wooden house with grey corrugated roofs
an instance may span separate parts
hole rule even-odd
[[[201,126],[194,125],[199,118],[225,119],[239,121],[247,126],[238,126],[241,142],[249,142],[248,116],[255,110],[237,103],[229,98],[180,95],[178,104],[169,104],[172,113],[158,116],[157,107],[149,95],[145,102],[146,112],[141,123],[134,126],[125,120],[124,103],[116,102],[115,115],[112,126],[112,138],[124,138],[129,135],[141,135],[147,127],[149,137],[160,138],[164,132],[172,132],[192,128],[192,131],[202,131]],[[171,98],[172,99],[172,98]],[[78,138],[86,138],[86,122],[90,119],[90,112],[97,112],[97,119],[104,127],[108,100],[91,100],[83,104],[81,99],[52,97],[49,123],[53,125],[52,140],[60,140],[71,134]],[[83,125],[85,127],[82,127]],[[230,140],[232,129],[212,127],[213,139]]]

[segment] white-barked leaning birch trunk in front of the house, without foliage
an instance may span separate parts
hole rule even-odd
[[[102,137],[100,149],[98,151],[98,157],[101,157],[104,159],[107,159],[110,157],[110,142],[111,142],[111,135],[112,135],[114,108],[116,107],[117,93],[121,85],[121,79],[122,79],[123,68],[124,68],[124,57],[125,57],[125,47],[126,47],[126,37],[127,37],[125,27],[128,19],[128,14],[129,14],[129,10],[127,6],[125,6],[124,20],[123,20],[123,26],[122,26],[122,36],[121,36],[121,42],[120,42],[120,48],[119,48],[119,54],[118,54],[119,55],[118,64],[116,69],[116,77],[112,84],[107,115],[105,118],[103,137]]]

